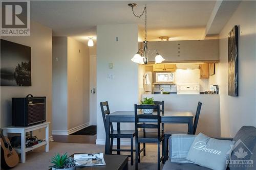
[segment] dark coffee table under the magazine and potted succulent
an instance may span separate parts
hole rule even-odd
[[[77,154],[77,153],[75,153]],[[80,153],[79,153],[80,154]],[[74,154],[71,155],[74,157]],[[106,165],[76,167],[77,170],[129,170],[128,156],[126,155],[104,155]],[[50,168],[49,170],[51,170]]]

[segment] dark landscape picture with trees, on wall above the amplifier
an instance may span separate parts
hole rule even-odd
[[[1,39],[1,86],[31,86],[31,47]]]

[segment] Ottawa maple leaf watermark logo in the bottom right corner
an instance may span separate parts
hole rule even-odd
[[[229,167],[237,167],[238,169],[241,167],[253,167],[253,160],[251,160],[252,152],[246,147],[242,140],[238,140],[234,144],[234,149],[232,151],[232,155],[230,156],[230,160],[227,161]]]

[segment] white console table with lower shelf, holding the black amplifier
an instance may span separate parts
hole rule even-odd
[[[49,125],[50,122],[45,122],[45,123],[40,123],[37,125],[33,126],[28,126],[28,127],[16,127],[16,126],[9,126],[2,128],[4,132],[4,136],[8,136],[8,133],[20,133],[21,137],[21,144],[20,148],[14,148],[17,153],[20,153],[20,157],[22,159],[22,163],[25,163],[26,161],[26,152],[34,150],[38,147],[41,147],[43,145],[46,145],[46,152],[49,152]],[[36,145],[33,145],[33,147],[26,148],[26,133],[27,132],[32,132],[37,129],[42,129],[45,128],[46,130],[46,139],[45,141],[38,143]]]

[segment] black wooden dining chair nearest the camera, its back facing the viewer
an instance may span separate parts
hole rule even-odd
[[[155,114],[138,114],[137,109],[157,109]],[[160,107],[159,105],[134,105],[135,110],[135,141],[136,141],[136,156],[135,169],[138,169],[140,162],[140,143],[157,143],[157,169],[160,170],[160,162],[163,160],[164,133],[160,129]],[[156,123],[157,124],[152,124]],[[139,129],[157,129],[157,132],[148,132]],[[162,156],[160,156],[160,145],[162,142]]]

